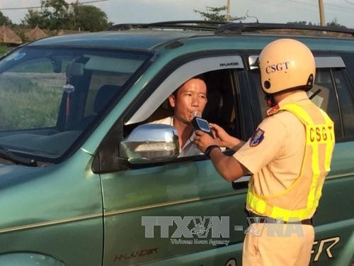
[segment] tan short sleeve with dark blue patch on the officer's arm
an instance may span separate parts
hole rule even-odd
[[[285,147],[287,128],[276,115],[265,118],[234,157],[252,174],[275,159]]]

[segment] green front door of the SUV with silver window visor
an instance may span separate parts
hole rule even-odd
[[[210,94],[208,104],[220,106],[218,104],[223,103],[221,109],[209,110],[210,117],[217,112],[222,117],[230,115],[228,125],[227,121],[222,122],[231,126],[229,131],[232,133],[239,134],[239,137],[244,135],[240,110],[250,105],[244,101],[239,106],[236,96],[244,93],[239,90],[237,78],[244,71],[241,57],[230,53],[192,55],[182,62],[178,60],[178,65],[171,70],[173,64],[170,62],[168,73],[159,73],[166,78],[156,84],[156,89],[145,96],[140,94],[142,98],[137,99],[130,112],[126,112],[121,119],[125,121],[121,131],[148,121],[159,107],[164,106],[164,99],[174,89],[190,77],[207,72],[211,77],[210,84],[221,84],[216,80],[224,74],[229,80],[227,86],[232,87],[221,101],[217,93]],[[208,88],[210,92],[212,86]],[[219,92],[224,93],[223,88]],[[232,109],[225,104],[230,100],[234,103]],[[222,108],[223,105],[226,109]],[[250,116],[251,111],[243,111]],[[232,123],[237,127],[230,125]],[[232,151],[225,153],[231,155]],[[236,265],[236,261],[241,262],[246,229],[244,184],[249,177],[240,179],[241,185],[235,190],[217,174],[205,155],[177,158],[166,163],[127,165],[121,169],[101,173],[105,225],[103,265],[142,262]]]

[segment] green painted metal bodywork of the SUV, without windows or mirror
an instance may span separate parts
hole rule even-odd
[[[105,137],[117,121],[127,121],[127,114],[137,109],[132,107],[135,101],[161,73],[176,70],[193,55],[228,52],[245,60],[243,52],[256,55],[276,38],[144,29],[66,35],[27,45],[132,49],[151,57],[130,88],[84,131],[70,153],[38,167],[0,164],[0,265],[241,265],[244,231],[249,226],[244,213],[246,181],[233,189],[202,156],[107,172],[96,171],[93,165],[100,160],[97,155]],[[354,52],[353,38],[295,38],[316,52]],[[182,45],[166,46],[175,41]],[[353,139],[336,143],[314,217],[312,265],[349,265],[353,260]],[[227,240],[227,245],[213,245],[210,238],[205,238],[207,243],[173,244],[176,225],[169,227],[169,238],[161,237],[159,226],[154,227],[154,238],[147,238],[142,225],[146,216],[229,217],[228,237],[218,238]]]

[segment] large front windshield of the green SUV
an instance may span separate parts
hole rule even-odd
[[[25,47],[2,58],[0,147],[60,157],[151,56],[132,50]]]

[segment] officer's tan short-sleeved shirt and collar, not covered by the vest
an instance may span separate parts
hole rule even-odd
[[[279,106],[309,101],[306,92],[296,92],[280,101]],[[304,157],[306,135],[304,125],[288,111],[266,117],[258,126],[263,140],[251,147],[249,139],[234,157],[253,174],[256,194],[283,192],[299,177]]]

